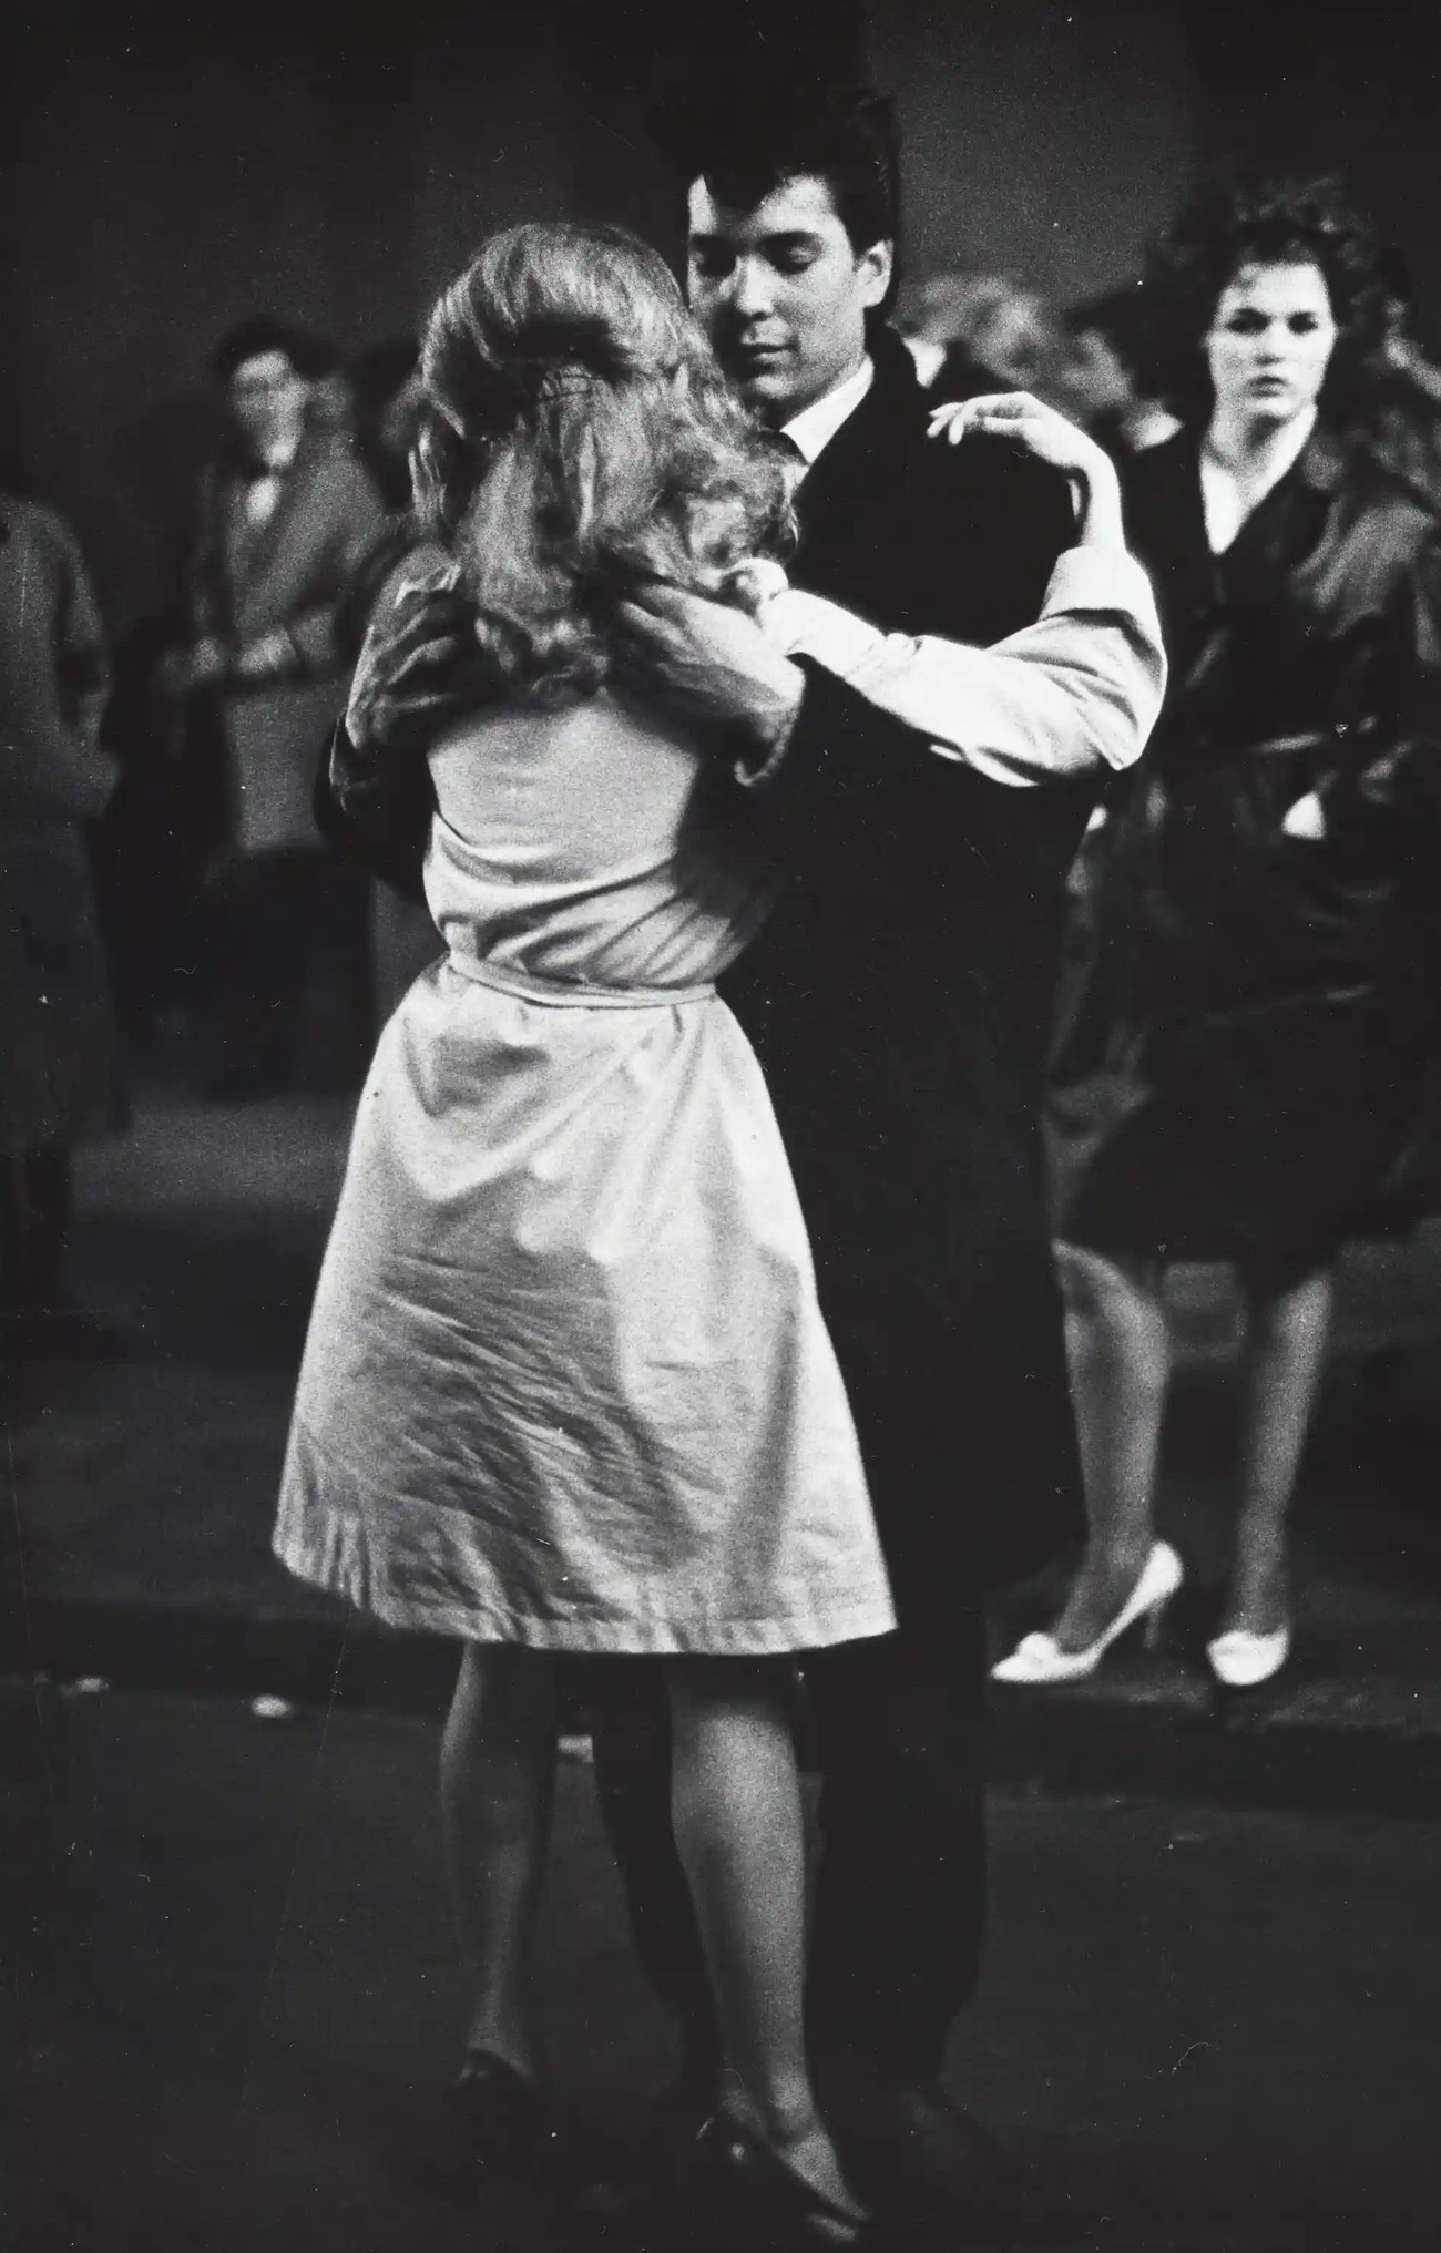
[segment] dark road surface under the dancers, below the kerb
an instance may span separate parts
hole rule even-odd
[[[465,2194],[433,1726],[0,1685],[16,1947],[16,2253],[521,2253],[546,2201]],[[1436,2244],[1441,1825],[999,1796],[954,2086],[1053,2244]],[[566,1766],[543,1951],[573,2131],[665,2071],[591,1773]],[[654,2253],[665,2253],[656,2246]]]

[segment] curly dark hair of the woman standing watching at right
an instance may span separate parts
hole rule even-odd
[[[1146,261],[1137,374],[1188,428],[1213,406],[1202,340],[1222,291],[1249,264],[1319,266],[1337,324],[1321,388],[1333,421],[1362,419],[1382,379],[1387,288],[1380,248],[1340,180],[1213,173],[1191,192]]]

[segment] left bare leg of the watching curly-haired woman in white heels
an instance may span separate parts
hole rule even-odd
[[[1087,1550],[1055,1622],[1080,1651],[1116,1618],[1155,1541],[1152,1496],[1170,1377],[1170,1332],[1155,1259],[1058,1244],[1067,1361],[1087,1505]]]

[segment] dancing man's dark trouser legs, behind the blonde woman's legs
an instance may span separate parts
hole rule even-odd
[[[810,2037],[898,2080],[931,2080],[976,1980],[985,1920],[985,1638],[945,1631],[843,1642],[805,1660],[821,1766]],[[686,2050],[717,2052],[710,1987],[670,1829],[661,1669],[598,1676],[595,1771],[640,1962]]]

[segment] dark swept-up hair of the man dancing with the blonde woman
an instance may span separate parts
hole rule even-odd
[[[785,180],[814,176],[857,257],[898,241],[900,135],[889,95],[834,79],[746,79],[668,101],[649,128],[681,192],[704,180],[717,203],[751,212]],[[886,306],[893,291],[895,279]]]

